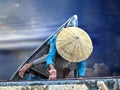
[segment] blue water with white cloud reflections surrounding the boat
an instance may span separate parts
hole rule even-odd
[[[120,75],[119,0],[1,0],[0,80],[8,80],[74,14],[78,15],[79,27],[88,32],[94,44],[86,76]]]

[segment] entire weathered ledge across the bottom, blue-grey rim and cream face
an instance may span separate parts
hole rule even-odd
[[[3,81],[0,90],[120,90],[120,77]]]

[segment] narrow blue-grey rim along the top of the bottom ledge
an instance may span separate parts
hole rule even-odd
[[[118,82],[120,85],[120,77],[91,77],[83,79],[56,79],[56,80],[39,80],[39,81],[0,81],[0,86],[24,86],[24,85],[65,85],[65,84],[95,84],[97,81]]]

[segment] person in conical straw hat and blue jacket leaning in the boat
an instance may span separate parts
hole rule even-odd
[[[77,27],[68,27],[63,29],[58,35],[54,35],[48,41],[48,44],[50,45],[50,49],[46,57],[46,67],[49,68],[49,80],[68,78],[71,69],[75,69],[75,66],[78,78],[82,79],[86,69],[85,59],[90,56],[93,49],[91,39],[86,32]],[[56,54],[59,54],[62,59],[57,58],[55,60]],[[25,64],[19,70],[19,76],[23,78],[26,70],[38,63],[39,61],[33,61]],[[66,72],[66,69],[67,73],[63,74]]]

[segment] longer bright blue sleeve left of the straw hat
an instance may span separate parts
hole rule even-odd
[[[54,58],[56,55],[56,37],[53,36],[53,38],[51,38],[48,41],[48,44],[50,44],[50,49],[49,49],[49,53],[46,57],[46,67],[48,67],[49,64],[53,64],[54,65]]]

